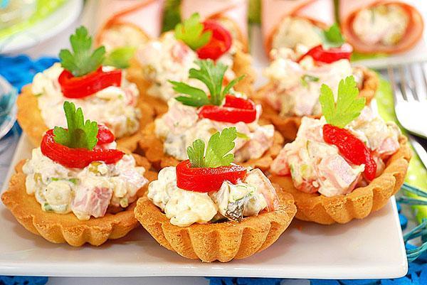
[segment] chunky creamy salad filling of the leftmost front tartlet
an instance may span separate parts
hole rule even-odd
[[[115,143],[102,147],[115,149]],[[145,169],[128,154],[115,164],[93,161],[80,169],[62,166],[37,148],[22,169],[26,192],[36,197],[43,211],[72,212],[79,220],[102,217],[110,207],[127,208],[148,182]]]

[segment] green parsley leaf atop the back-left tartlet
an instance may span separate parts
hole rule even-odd
[[[80,26],[70,36],[70,50],[60,50],[60,64],[63,68],[73,73],[74,76],[83,76],[97,70],[105,58],[105,47],[100,46],[92,51],[92,38],[88,36],[88,30]]]

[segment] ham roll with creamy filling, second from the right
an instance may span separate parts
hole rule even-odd
[[[265,50],[312,48],[322,43],[322,30],[334,23],[332,0],[262,0]]]

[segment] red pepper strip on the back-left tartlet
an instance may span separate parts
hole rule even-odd
[[[74,77],[68,70],[63,70],[59,75],[58,82],[64,97],[83,98],[109,86],[120,86],[122,84],[122,70],[104,72],[102,68],[98,68],[96,71],[81,77]]]

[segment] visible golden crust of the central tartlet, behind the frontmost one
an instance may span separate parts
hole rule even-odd
[[[167,166],[176,166],[179,161],[164,153],[163,141],[156,136],[154,122],[147,124],[147,127],[142,130],[142,139],[139,141],[139,148],[144,156],[148,159],[154,168],[158,170]],[[242,166],[251,166],[260,168],[265,171],[270,168],[273,159],[278,156],[280,149],[283,147],[283,137],[278,131],[275,131],[273,137],[273,146],[265,151],[265,154],[257,159],[250,159],[244,163],[239,163]]]

